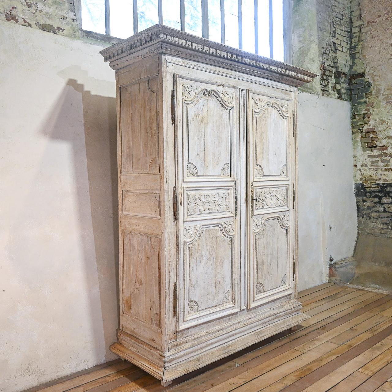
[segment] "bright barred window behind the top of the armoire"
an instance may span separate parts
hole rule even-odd
[[[128,38],[160,23],[283,61],[285,0],[80,0],[83,30]]]

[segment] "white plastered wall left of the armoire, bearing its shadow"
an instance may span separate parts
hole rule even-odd
[[[0,390],[114,359],[114,71],[102,47],[0,22]]]

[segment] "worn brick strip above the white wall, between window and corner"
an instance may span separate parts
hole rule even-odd
[[[318,0],[321,94],[350,100],[350,0]]]

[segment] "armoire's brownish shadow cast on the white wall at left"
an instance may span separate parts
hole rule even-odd
[[[89,78],[86,71],[75,66],[58,73],[66,80],[66,87],[45,127],[45,136],[72,146],[77,219],[91,312],[86,318],[89,317],[88,322],[93,328],[96,358],[103,358],[104,353],[105,360],[108,360],[114,358],[109,346],[116,340],[119,321],[116,98],[91,94],[85,90],[84,84],[67,78],[69,74],[80,75],[87,85],[89,79],[94,86],[111,83]],[[80,96],[84,135],[77,134],[80,127],[75,130],[75,127],[67,126],[67,116],[72,117],[74,110],[80,110],[72,107],[74,102],[80,102]],[[61,120],[59,113],[62,113]],[[69,124],[74,125],[71,117]],[[52,119],[55,119],[54,123]],[[98,288],[94,287],[97,279]],[[80,322],[82,324],[83,320]]]

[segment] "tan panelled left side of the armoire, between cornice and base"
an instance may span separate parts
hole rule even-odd
[[[120,329],[161,348],[161,137],[158,56],[117,71]]]

